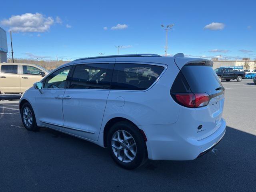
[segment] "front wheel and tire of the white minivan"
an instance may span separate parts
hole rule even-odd
[[[24,127],[29,131],[36,131],[39,127],[36,124],[36,117],[34,114],[34,110],[29,103],[25,103],[22,105],[21,111],[21,119]]]

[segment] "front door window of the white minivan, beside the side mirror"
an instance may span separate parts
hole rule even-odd
[[[50,74],[45,82],[45,89],[64,89],[68,83],[68,73],[70,71],[71,66],[61,68],[56,72]]]

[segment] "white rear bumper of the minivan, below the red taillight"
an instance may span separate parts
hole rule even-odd
[[[194,160],[200,154],[213,148],[226,132],[226,122],[222,118],[221,126],[210,136],[196,140],[184,138],[175,131],[177,124],[139,126],[148,142],[148,158],[152,160]]]

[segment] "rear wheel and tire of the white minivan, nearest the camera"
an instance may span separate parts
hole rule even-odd
[[[140,130],[130,122],[117,122],[107,136],[110,156],[120,167],[134,169],[146,162],[146,142]]]

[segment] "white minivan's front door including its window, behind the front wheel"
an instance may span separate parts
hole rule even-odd
[[[35,101],[38,124],[57,130],[64,130],[62,101],[70,68],[71,66],[61,68],[50,74],[43,81],[42,94]]]

